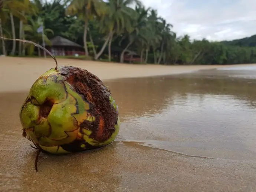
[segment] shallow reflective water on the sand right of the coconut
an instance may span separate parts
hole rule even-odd
[[[107,82],[123,121],[120,140],[193,156],[256,159],[256,80],[232,77],[239,73]]]

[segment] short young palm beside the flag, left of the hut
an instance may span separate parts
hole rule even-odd
[[[35,42],[35,43],[41,42],[42,34],[37,33],[37,29],[40,27],[39,20],[34,21],[31,17],[29,17],[28,20],[30,21],[31,24],[25,24],[23,26],[23,30],[24,30],[24,32],[26,32],[26,34],[25,34],[26,39],[30,40],[32,42]],[[52,33],[53,34],[53,31],[51,29],[44,29],[44,34],[43,35],[44,35],[45,43],[50,45],[51,42],[47,37],[47,33]],[[28,54],[32,55],[34,50],[35,50],[35,45],[34,44],[27,44],[26,46],[27,46]],[[39,50],[38,50],[38,54],[40,56],[40,51]]]

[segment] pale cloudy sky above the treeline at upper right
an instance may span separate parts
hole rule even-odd
[[[256,0],[141,0],[173,24],[177,36],[210,41],[256,34]]]

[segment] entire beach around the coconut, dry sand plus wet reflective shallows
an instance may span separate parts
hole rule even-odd
[[[0,57],[0,191],[256,191],[256,64],[160,66],[58,59],[101,78],[121,128],[102,149],[41,154],[19,110],[53,59]],[[217,70],[223,69],[223,70]]]

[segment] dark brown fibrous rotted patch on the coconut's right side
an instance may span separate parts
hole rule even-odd
[[[66,77],[66,81],[75,92],[91,104],[88,113],[91,113],[97,120],[96,123],[89,123],[90,125],[84,123],[84,126],[88,126],[87,129],[92,131],[90,137],[99,142],[108,140],[115,131],[113,127],[118,114],[109,102],[111,94],[107,87],[97,76],[79,67],[62,66],[58,71],[60,75]]]

